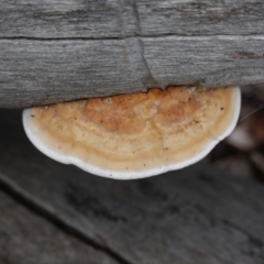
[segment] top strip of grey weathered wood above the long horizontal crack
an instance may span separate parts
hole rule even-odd
[[[262,0],[1,0],[1,37],[264,34]]]

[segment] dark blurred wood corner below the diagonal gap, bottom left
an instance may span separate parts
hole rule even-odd
[[[1,264],[118,264],[0,191]]]

